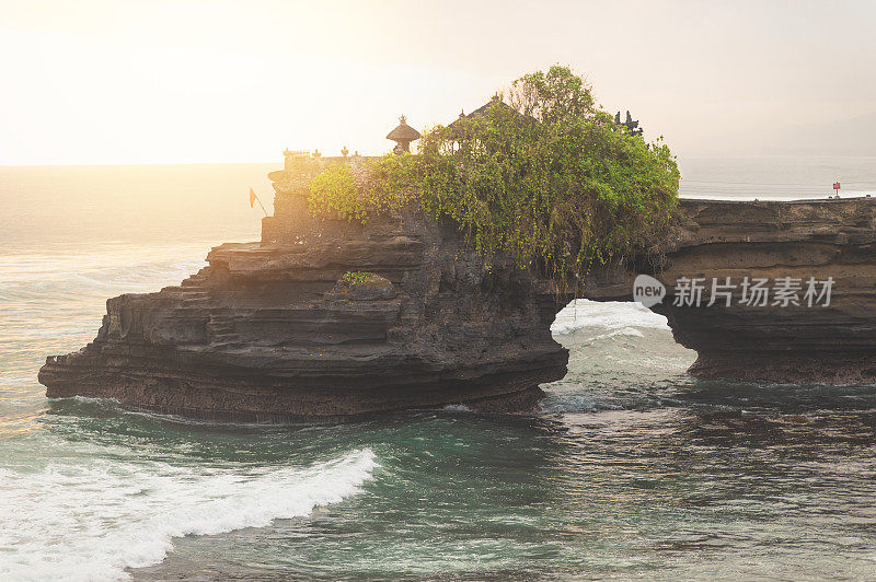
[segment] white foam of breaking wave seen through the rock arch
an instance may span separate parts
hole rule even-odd
[[[621,331],[614,335],[639,337],[639,328],[669,329],[666,317],[642,303],[576,299],[556,314],[551,331],[563,335],[590,327]]]

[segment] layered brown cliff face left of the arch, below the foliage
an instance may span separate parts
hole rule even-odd
[[[181,287],[107,301],[93,342],[48,358],[46,394],[214,418],[515,410],[565,374],[546,282],[485,266],[454,228],[413,213],[318,222],[280,191],[263,243],[207,259]],[[348,284],[347,271],[376,276]]]

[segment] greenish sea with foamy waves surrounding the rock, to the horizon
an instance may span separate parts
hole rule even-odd
[[[531,415],[230,423],[47,399],[105,300],[258,238],[277,164],[0,167],[0,580],[876,579],[876,385],[701,381],[578,300]],[[681,195],[876,195],[876,159],[682,160]]]

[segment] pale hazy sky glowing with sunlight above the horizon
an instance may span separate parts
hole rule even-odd
[[[876,112],[876,1],[0,0],[0,164],[382,153],[560,62],[680,154]]]

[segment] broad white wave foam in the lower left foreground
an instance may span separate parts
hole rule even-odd
[[[0,579],[110,580],[159,563],[172,538],[264,527],[356,493],[369,449],[310,467],[94,459],[0,469]]]

